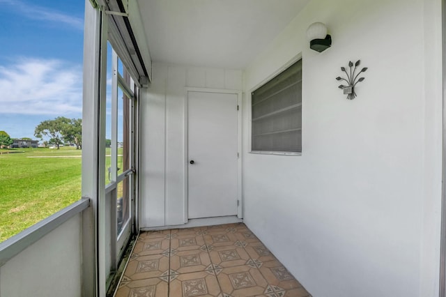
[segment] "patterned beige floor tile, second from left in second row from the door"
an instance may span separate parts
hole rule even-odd
[[[202,250],[186,250],[172,254],[170,269],[177,273],[192,273],[212,269],[208,252]]]

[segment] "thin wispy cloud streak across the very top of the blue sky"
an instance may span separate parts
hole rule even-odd
[[[63,23],[68,24],[75,29],[84,29],[84,20],[82,20],[82,18],[67,15],[66,13],[61,13],[51,8],[36,6],[18,0],[0,0],[0,3],[10,5],[13,9],[29,19],[56,22],[57,24]]]

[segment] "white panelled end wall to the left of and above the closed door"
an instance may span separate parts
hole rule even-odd
[[[185,222],[186,87],[241,90],[242,71],[153,63],[153,82],[141,89],[140,102],[141,228]]]

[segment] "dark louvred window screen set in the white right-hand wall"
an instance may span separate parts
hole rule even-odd
[[[302,60],[252,92],[252,151],[302,152]]]

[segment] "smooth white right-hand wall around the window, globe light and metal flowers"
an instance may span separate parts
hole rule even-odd
[[[440,0],[312,0],[245,70],[245,223],[315,297],[438,296],[440,29]],[[302,156],[251,154],[249,94],[298,54]],[[346,100],[335,77],[357,59]]]

